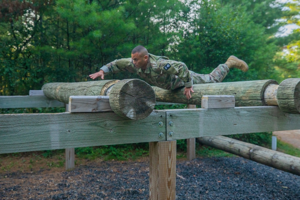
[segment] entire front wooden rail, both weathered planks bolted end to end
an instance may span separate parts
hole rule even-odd
[[[166,126],[170,121],[173,126]],[[138,121],[114,112],[2,114],[0,153],[296,129],[300,115],[277,106],[154,110]]]

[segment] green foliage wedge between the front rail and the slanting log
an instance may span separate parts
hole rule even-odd
[[[272,142],[272,132],[228,135],[227,137],[259,146],[267,146]]]

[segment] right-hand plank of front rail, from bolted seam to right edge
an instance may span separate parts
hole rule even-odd
[[[300,115],[289,114],[278,106],[251,106],[220,109],[166,110],[167,140],[205,136],[258,133],[300,129]]]

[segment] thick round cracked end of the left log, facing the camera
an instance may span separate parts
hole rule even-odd
[[[139,79],[125,79],[110,91],[110,106],[122,117],[140,120],[146,118],[155,106],[155,93],[151,86]]]

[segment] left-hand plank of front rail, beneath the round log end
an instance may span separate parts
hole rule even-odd
[[[164,141],[165,111],[134,121],[114,112],[0,115],[0,153]]]

